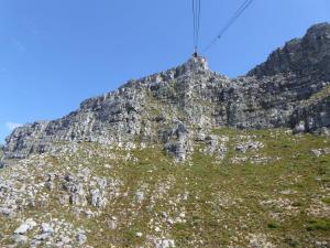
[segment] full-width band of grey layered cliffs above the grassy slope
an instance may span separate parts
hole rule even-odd
[[[268,60],[235,79],[211,72],[204,57],[130,80],[118,90],[81,103],[53,121],[16,128],[7,158],[52,150],[54,142],[99,142],[110,147],[161,143],[176,160],[215,127],[330,127],[330,24],[311,26]],[[205,140],[206,141],[206,140]]]

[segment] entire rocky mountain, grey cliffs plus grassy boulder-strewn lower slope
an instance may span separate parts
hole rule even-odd
[[[191,57],[16,128],[0,246],[330,247],[329,62],[316,24],[245,76]]]

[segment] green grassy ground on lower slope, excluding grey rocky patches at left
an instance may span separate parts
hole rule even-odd
[[[72,209],[61,207],[56,198],[48,207],[26,209],[24,217],[51,212],[69,219],[90,230],[88,245],[94,247],[139,247],[151,244],[150,237],[162,236],[175,239],[177,247],[248,247],[253,240],[260,247],[330,244],[330,155],[310,153],[311,149],[329,148],[329,138],[292,136],[284,130],[219,129],[215,134],[230,137],[229,153],[220,164],[198,148],[190,161],[179,165],[160,148],[127,152],[84,144],[68,159],[47,158],[43,172],[76,172],[80,164],[98,176],[120,180],[120,194],[96,218],[74,217]],[[246,154],[235,151],[238,140],[246,136],[255,136],[254,140],[265,147]],[[233,164],[237,157],[246,157],[248,161]],[[271,162],[253,163],[256,157]],[[105,164],[112,169],[105,169]],[[1,173],[10,173],[10,169]],[[139,191],[145,195],[142,203],[135,201]],[[186,223],[168,224],[164,212],[172,219],[185,213]],[[119,219],[114,230],[109,228],[111,216]],[[6,223],[2,231],[8,235],[18,225],[1,216],[0,223]],[[155,231],[155,226],[161,230]],[[143,236],[136,237],[136,231]]]

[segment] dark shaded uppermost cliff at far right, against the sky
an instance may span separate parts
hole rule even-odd
[[[330,25],[321,23],[311,26],[302,39],[294,39],[276,50],[268,60],[252,69],[249,75],[274,76],[296,72],[330,80]]]

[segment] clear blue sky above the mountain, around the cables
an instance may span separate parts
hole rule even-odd
[[[243,0],[201,2],[205,46]],[[324,21],[329,0],[255,0],[205,55],[234,77]],[[184,63],[193,46],[191,0],[1,0],[0,143],[20,123]]]

